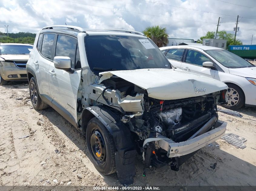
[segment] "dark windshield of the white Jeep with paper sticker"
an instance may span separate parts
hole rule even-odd
[[[89,66],[96,75],[112,70],[171,68],[155,43],[142,36],[86,36],[85,48]]]

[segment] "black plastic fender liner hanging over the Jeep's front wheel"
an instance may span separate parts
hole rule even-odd
[[[90,114],[97,117],[113,136],[116,147],[115,165],[119,181],[126,185],[132,184],[135,176],[136,150],[135,143],[131,138],[130,129],[120,121],[118,116],[108,110],[107,107],[87,107],[83,111],[83,114],[88,114],[88,111]],[[84,117],[82,116],[82,119],[85,119]],[[88,119],[86,121],[88,123]],[[83,124],[82,121],[82,127],[84,126],[85,124]]]

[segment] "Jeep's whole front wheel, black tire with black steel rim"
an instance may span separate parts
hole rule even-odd
[[[97,117],[92,118],[87,125],[86,143],[95,168],[105,175],[115,173],[115,142]]]

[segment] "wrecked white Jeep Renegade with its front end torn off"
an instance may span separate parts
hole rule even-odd
[[[34,108],[58,111],[86,136],[96,169],[123,184],[133,182],[136,153],[145,171],[177,171],[227,126],[216,107],[227,85],[172,69],[140,32],[44,27],[26,69]]]

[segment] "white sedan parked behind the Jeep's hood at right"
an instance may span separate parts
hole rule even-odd
[[[228,109],[256,105],[256,68],[227,50],[212,46],[167,46],[160,50],[172,66],[228,85]]]

